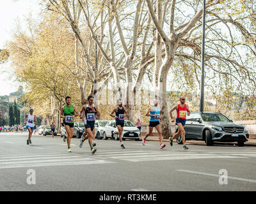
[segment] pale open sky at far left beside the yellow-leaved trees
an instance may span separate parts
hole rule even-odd
[[[38,0],[0,0],[0,48],[4,48],[6,41],[12,39],[11,33],[15,29],[17,18],[22,23],[29,13],[35,17],[39,12]],[[22,85],[15,82],[12,70],[10,62],[0,64],[0,96],[9,95]]]

